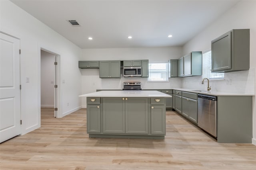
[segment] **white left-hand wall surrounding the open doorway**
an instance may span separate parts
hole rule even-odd
[[[60,55],[60,117],[80,108],[81,49],[8,0],[0,1],[0,30],[20,38],[22,134],[40,127],[40,48]],[[26,77],[30,82],[26,83]],[[69,106],[67,106],[69,102]]]

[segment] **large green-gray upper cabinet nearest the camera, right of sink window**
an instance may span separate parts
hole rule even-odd
[[[232,29],[212,41],[212,72],[250,68],[250,29]]]

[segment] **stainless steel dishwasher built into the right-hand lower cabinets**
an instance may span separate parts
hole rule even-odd
[[[198,94],[198,126],[217,137],[217,97]]]

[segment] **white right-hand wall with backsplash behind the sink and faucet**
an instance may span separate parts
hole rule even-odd
[[[214,90],[238,93],[255,94],[256,75],[256,1],[240,1],[233,8],[228,10],[214,23],[209,25],[204,31],[196,35],[183,48],[183,54],[190,51],[206,51],[211,48],[211,41],[231,29],[250,29],[250,70],[240,72],[225,73],[225,79],[231,80],[231,85],[227,85],[226,80],[211,81],[210,85]],[[183,78],[182,87],[206,89],[200,82],[201,76]],[[253,96],[253,139],[256,145],[256,100]]]

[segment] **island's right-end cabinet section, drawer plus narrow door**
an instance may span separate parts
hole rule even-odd
[[[164,98],[151,98],[150,115],[151,115],[151,134],[166,134],[166,116],[165,116]]]

